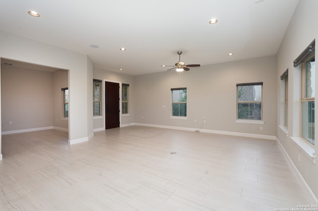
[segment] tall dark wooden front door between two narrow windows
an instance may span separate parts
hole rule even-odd
[[[119,127],[119,84],[105,82],[106,129]]]

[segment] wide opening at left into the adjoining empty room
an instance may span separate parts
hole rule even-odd
[[[69,131],[61,91],[68,87],[69,70],[7,58],[0,58],[0,63],[2,135]]]

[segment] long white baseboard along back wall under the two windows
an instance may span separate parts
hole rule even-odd
[[[222,135],[230,135],[230,136],[241,136],[241,137],[276,140],[276,136],[252,134],[252,133],[239,133],[239,132],[222,131],[222,130],[208,130],[208,129],[197,129],[197,128],[190,128],[190,127],[176,127],[176,126],[166,126],[166,125],[156,125],[156,124],[143,124],[143,123],[133,123],[133,125],[146,126],[146,127],[159,127],[159,128],[167,128],[167,129],[174,129],[174,130],[196,131],[196,132],[203,132],[203,133],[214,133],[214,134],[222,134]]]

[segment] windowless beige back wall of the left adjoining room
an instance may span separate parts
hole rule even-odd
[[[52,94],[52,72],[2,65],[1,130],[53,126]]]

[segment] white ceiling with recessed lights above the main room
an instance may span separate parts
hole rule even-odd
[[[160,65],[174,65],[177,51],[186,64],[201,65],[275,55],[298,1],[2,0],[0,30],[87,54],[97,68],[141,75],[165,71]],[[219,22],[209,24],[214,17]]]

